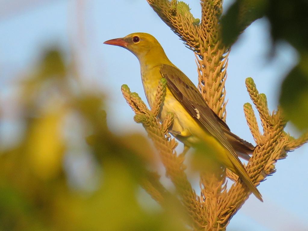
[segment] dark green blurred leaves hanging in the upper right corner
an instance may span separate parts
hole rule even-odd
[[[280,104],[286,116],[300,130],[308,129],[308,2],[306,0],[236,0],[222,17],[226,45],[258,18],[270,23],[272,49],[288,42],[298,54],[298,64],[282,82]]]

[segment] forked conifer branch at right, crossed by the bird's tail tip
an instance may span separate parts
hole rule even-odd
[[[271,115],[270,118],[269,114],[267,114],[268,108],[265,109],[265,101],[262,101],[260,98],[256,86],[251,78],[246,79],[246,85],[249,95],[259,111],[260,117],[264,119],[266,116],[268,116],[268,121],[277,121],[276,124],[271,124],[272,127],[266,126],[262,138],[256,139],[256,141],[259,140],[261,143],[257,142],[257,147],[255,148],[253,155],[250,158],[248,165],[246,166],[246,171],[252,181],[255,183],[255,185],[259,185],[266,176],[273,174],[276,171],[274,164],[277,162],[277,160],[286,157],[286,146],[288,144],[288,139],[286,138],[286,135],[283,131],[286,121],[282,117],[280,110],[278,110],[277,113]],[[244,108],[248,108],[251,111],[248,105],[250,104],[245,104]],[[253,120],[254,119],[252,119],[252,121]],[[247,119],[247,121],[249,121],[249,119]],[[265,119],[263,121],[265,122]],[[249,127],[251,133],[253,136],[255,136],[256,129],[250,125]],[[248,199],[249,194],[249,190],[247,190],[246,186],[241,182],[241,180],[237,181],[231,186],[229,192],[224,198],[222,198],[222,212],[219,215],[218,221],[222,226],[225,227],[228,225],[230,219],[233,217],[236,211],[240,209],[241,205],[243,205],[245,200]]]

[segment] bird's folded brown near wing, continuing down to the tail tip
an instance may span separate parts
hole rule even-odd
[[[163,64],[160,67],[160,73],[167,80],[168,89],[181,102],[186,111],[228,151],[228,158],[233,164],[233,166],[229,167],[235,170],[235,173],[240,176],[253,194],[262,201],[260,192],[251,181],[244,165],[238,159],[235,150],[221,129],[221,122],[217,120],[215,113],[209,108],[197,87],[183,72],[174,66]]]

